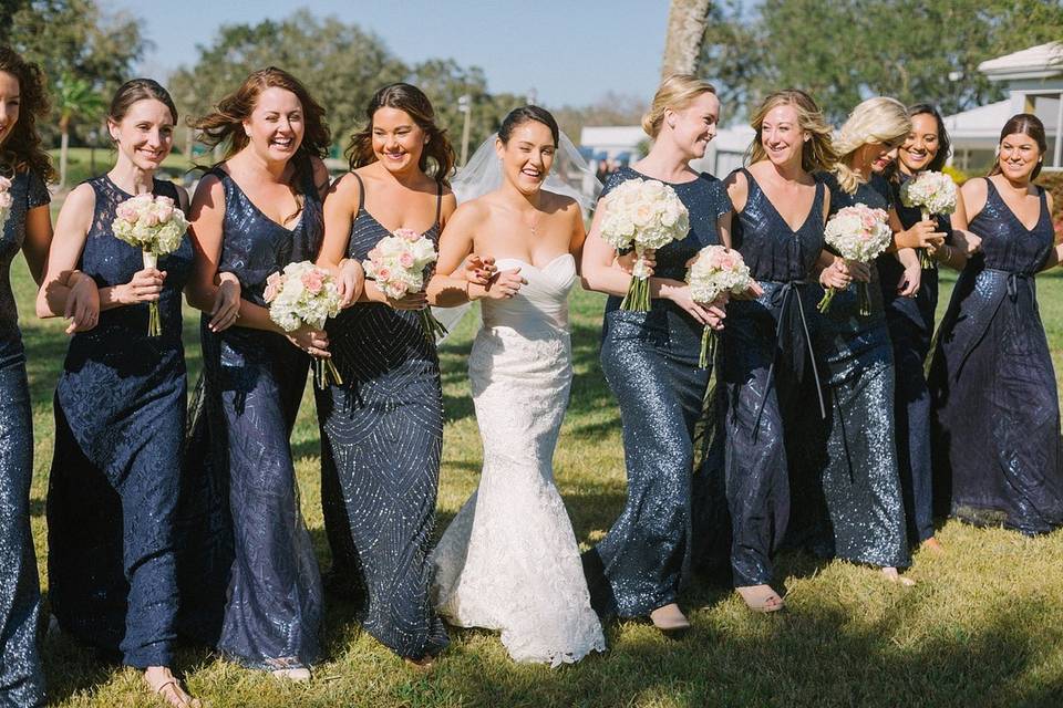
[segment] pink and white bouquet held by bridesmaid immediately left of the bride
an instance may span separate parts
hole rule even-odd
[[[432,239],[413,229],[396,229],[382,238],[362,261],[365,277],[376,281],[376,287],[389,298],[398,300],[406,293],[424,289],[425,269],[435,262],[438,254]],[[424,336],[434,342],[436,335],[446,334],[446,327],[435,319],[431,308],[420,311]]]

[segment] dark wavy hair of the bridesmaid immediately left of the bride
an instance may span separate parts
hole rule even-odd
[[[417,167],[425,175],[431,175],[441,185],[448,185],[451,173],[454,170],[454,148],[446,139],[446,131],[435,124],[435,111],[432,102],[424,92],[405,83],[388,84],[373,94],[365,106],[365,127],[351,136],[344,155],[351,163],[351,169],[376,162],[373,154],[373,116],[380,108],[398,108],[413,118],[429,136],[429,142],[421,152]],[[429,160],[435,163],[433,171],[429,170]]]

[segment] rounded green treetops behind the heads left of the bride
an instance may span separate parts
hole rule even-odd
[[[182,113],[203,115],[252,71],[279,66],[302,81],[324,106],[332,138],[341,148],[364,125],[373,93],[395,81],[416,84],[429,95],[455,152],[461,149],[463,118],[458,96],[468,94],[472,100],[471,150],[510,108],[524,103],[517,96],[491,94],[478,67],[463,67],[450,59],[409,66],[376,34],[336,17],[317,18],[308,10],[279,21],[223,25],[214,41],[198,50],[195,65],[182,67],[169,80]]]

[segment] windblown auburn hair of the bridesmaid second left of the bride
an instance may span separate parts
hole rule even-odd
[[[250,117],[258,103],[258,97],[267,88],[283,88],[296,94],[302,105],[303,125],[306,129],[299,149],[292,158],[296,169],[293,186],[298,189],[303,179],[312,177],[310,157],[324,158],[332,145],[329,126],[324,123],[324,108],[314,101],[306,86],[298,79],[282,69],[268,66],[260,69],[248,76],[240,87],[218,101],[213,113],[190,121],[192,127],[202,131],[200,139],[210,147],[227,145],[221,162],[229,159],[247,147],[250,138],[244,132],[244,121]]]

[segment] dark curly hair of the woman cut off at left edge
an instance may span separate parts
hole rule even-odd
[[[54,181],[55,169],[37,132],[38,118],[47,117],[50,110],[44,73],[6,44],[0,44],[0,71],[19,81],[19,119],[8,139],[0,144],[0,162],[16,170],[28,169],[44,181]]]

